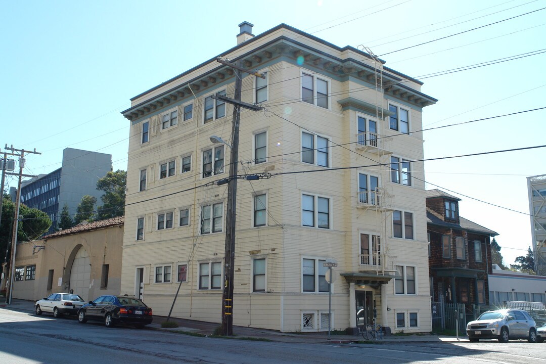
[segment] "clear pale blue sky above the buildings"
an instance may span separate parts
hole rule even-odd
[[[287,23],[338,46],[370,47],[388,67],[421,79],[422,91],[438,99],[425,108],[425,127],[546,106],[546,53],[536,52],[546,48],[546,9],[515,17],[545,8],[545,0],[259,4],[4,2],[2,150],[7,143],[41,152],[28,157],[28,174],[58,168],[66,147],[110,153],[114,169],[127,169],[129,122],[120,111],[129,107],[129,98],[233,47],[242,21],[253,23],[256,35]],[[468,31],[473,28],[478,29]],[[406,47],[411,48],[401,50]],[[430,130],[424,133],[425,157],[546,144],[545,116],[539,110]],[[546,174],[545,157],[546,150],[538,148],[431,161],[425,179],[462,199],[461,216],[497,231],[510,264],[531,245],[525,177]]]

